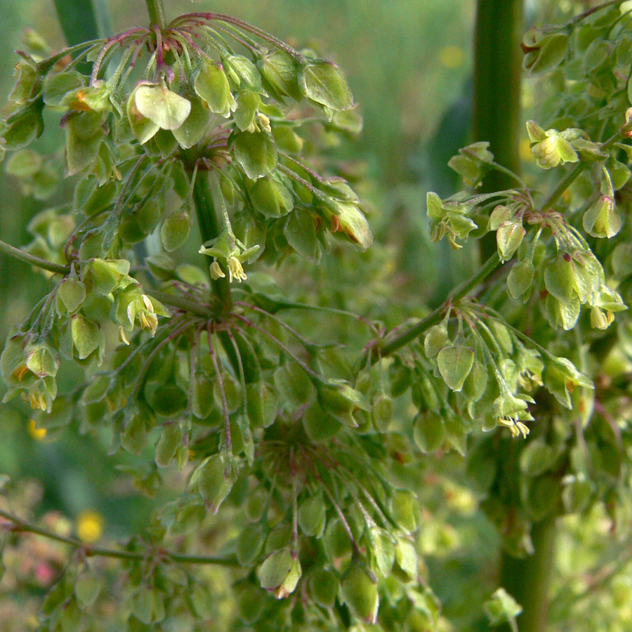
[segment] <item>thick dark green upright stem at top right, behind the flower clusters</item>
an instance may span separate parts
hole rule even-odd
[[[478,0],[474,43],[473,140],[488,140],[497,163],[520,173],[520,77],[522,0]],[[510,189],[513,178],[491,171],[482,192]],[[496,250],[493,232],[483,237],[480,257]]]

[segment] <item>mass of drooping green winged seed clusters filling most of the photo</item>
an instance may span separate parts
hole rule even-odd
[[[495,233],[497,254],[423,319],[382,287],[388,251],[322,152],[361,128],[333,62],[214,13],[20,53],[6,171],[54,194],[58,161],[31,145],[56,116],[74,193],[29,223],[48,286],[1,354],[4,402],[30,404],[34,432],[107,433],[159,496],[124,548],[58,535],[80,555],[42,631],[89,628],[121,565],[110,618],[130,631],[445,631],[427,564],[454,540],[422,484],[442,459],[513,555],[542,520],[625,515],[628,17],[527,32],[525,70],[553,86],[531,170],[485,142],[450,160],[466,190],[428,192],[430,240]],[[496,170],[515,187],[478,192]],[[485,587],[479,614],[520,625]]]

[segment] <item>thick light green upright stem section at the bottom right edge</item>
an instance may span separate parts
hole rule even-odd
[[[547,629],[549,586],[555,552],[555,516],[535,522],[531,529],[534,553],[514,558],[502,553],[500,584],[522,605],[518,617],[520,632]]]

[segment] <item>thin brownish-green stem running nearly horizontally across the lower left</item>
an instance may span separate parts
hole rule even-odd
[[[114,548],[91,546],[77,538],[62,536],[52,531],[48,531],[48,529],[33,525],[31,522],[27,522],[27,520],[22,520],[22,518],[18,518],[17,515],[13,515],[12,513],[4,511],[3,509],[0,509],[0,516],[11,522],[11,527],[9,527],[9,531],[13,533],[33,533],[36,535],[44,536],[49,540],[54,540],[55,542],[61,542],[62,544],[67,544],[68,546],[72,546],[73,548],[81,549],[81,551],[83,551],[84,555],[86,555],[87,557],[98,556],[101,558],[119,558],[121,560],[147,559],[146,552],[139,551],[137,553],[136,551],[119,551]],[[169,553],[168,551],[157,551],[157,554],[160,555],[161,558],[166,558],[167,560],[180,562],[183,564],[213,564],[218,566],[237,565],[237,560],[235,558],[220,558],[204,555],[183,555],[182,553]]]

